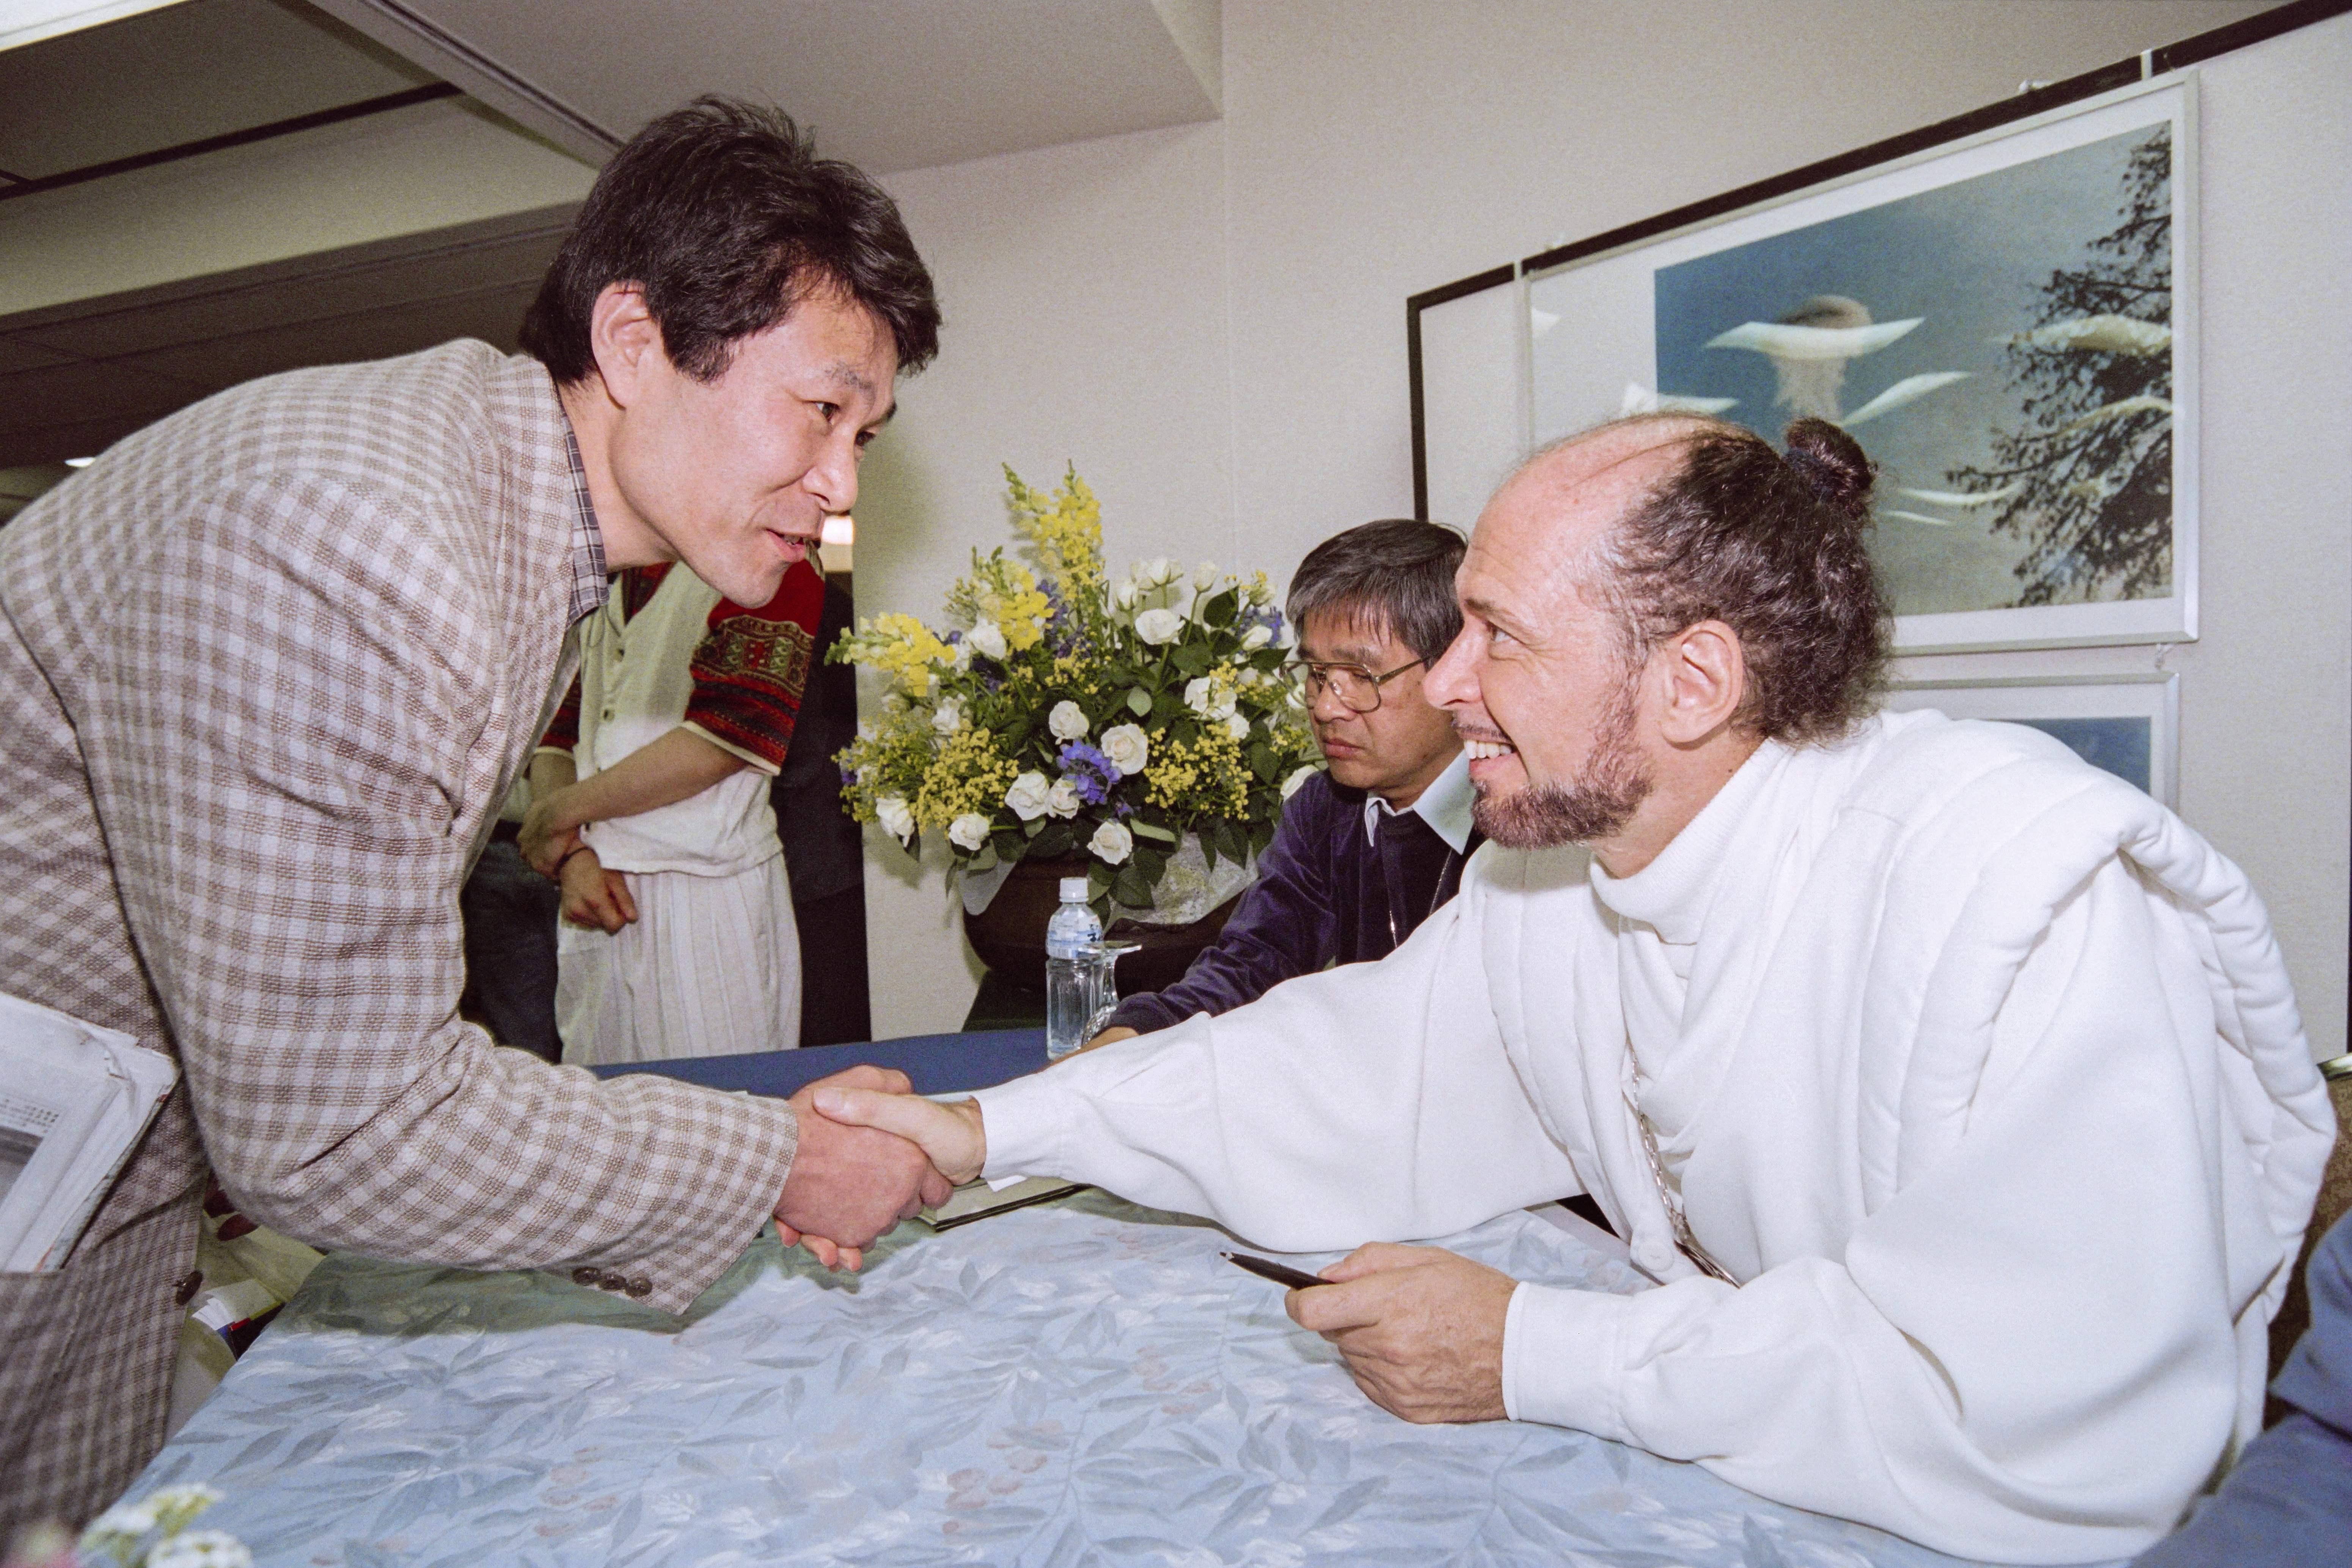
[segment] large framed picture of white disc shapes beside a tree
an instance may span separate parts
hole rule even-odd
[[[1526,263],[1529,440],[1691,409],[1879,463],[1907,654],[2197,635],[2194,80]]]

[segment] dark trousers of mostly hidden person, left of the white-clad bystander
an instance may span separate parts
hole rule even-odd
[[[564,1041],[555,1034],[555,922],[562,893],[515,846],[529,804],[527,783],[506,792],[489,844],[456,898],[466,919],[466,990],[456,1011],[489,1030],[501,1046],[553,1063],[564,1053]]]

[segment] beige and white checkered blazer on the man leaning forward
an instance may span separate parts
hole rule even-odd
[[[0,529],[0,990],[186,1072],[54,1274],[0,1274],[0,1540],[162,1441],[207,1166],[318,1246],[593,1265],[680,1309],[779,1103],[456,1018],[459,884],[602,592],[546,371],[485,343],[233,388]]]

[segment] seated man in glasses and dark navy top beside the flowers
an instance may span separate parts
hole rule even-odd
[[[1129,997],[1091,1044],[1225,1013],[1294,976],[1383,959],[1461,886],[1479,844],[1470,764],[1421,679],[1461,630],[1463,541],[1430,522],[1367,522],[1291,578],[1289,672],[1329,771],[1282,811],[1216,945],[1183,980]]]

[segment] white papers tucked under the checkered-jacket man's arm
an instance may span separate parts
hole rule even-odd
[[[54,1269],[179,1065],[120,1030],[0,992],[0,1269]]]

